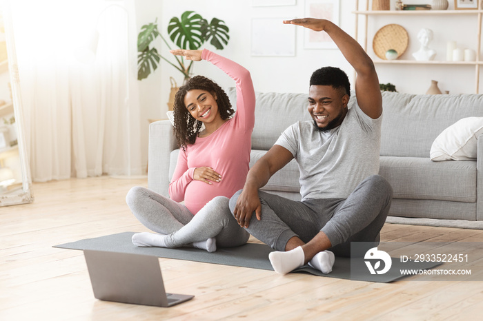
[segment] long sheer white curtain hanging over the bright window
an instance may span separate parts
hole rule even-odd
[[[133,1],[11,1],[34,181],[143,172]]]

